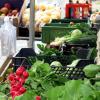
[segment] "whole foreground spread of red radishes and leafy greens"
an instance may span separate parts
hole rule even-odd
[[[7,95],[10,91],[15,98],[9,97],[8,100],[99,100],[100,98],[100,65],[91,64],[84,67],[86,76],[91,77],[84,80],[69,80],[62,74],[58,76],[48,63],[39,60],[27,72],[22,74],[22,70],[25,69],[19,67],[18,72],[10,74],[8,80],[0,84],[1,100],[6,100],[10,96]],[[19,75],[27,79],[25,83],[17,81],[18,86],[17,82],[11,85],[13,80],[20,78]]]

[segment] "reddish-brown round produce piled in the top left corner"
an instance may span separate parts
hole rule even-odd
[[[0,16],[17,16],[18,9],[12,9],[11,4],[5,3],[2,8],[0,8]]]

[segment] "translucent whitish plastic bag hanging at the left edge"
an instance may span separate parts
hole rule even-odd
[[[9,17],[4,18],[0,36],[2,56],[12,56],[16,52],[16,27],[12,25]]]

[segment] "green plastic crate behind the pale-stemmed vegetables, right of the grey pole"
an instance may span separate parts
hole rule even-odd
[[[42,42],[44,43],[50,43],[52,42],[56,37],[62,37],[66,34],[69,34],[69,32],[71,32],[72,30],[74,30],[76,28],[68,28],[67,25],[64,24],[60,24],[60,25],[52,25],[52,26],[48,26],[45,25],[44,27],[42,27]]]

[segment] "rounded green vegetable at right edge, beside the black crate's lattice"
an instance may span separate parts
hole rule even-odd
[[[93,78],[100,71],[100,66],[95,64],[87,65],[83,71],[87,77]]]

